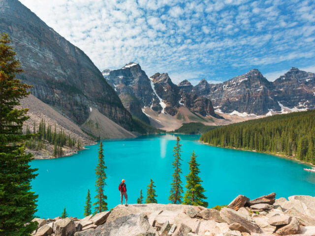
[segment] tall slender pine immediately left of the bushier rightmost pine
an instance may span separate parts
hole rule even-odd
[[[180,174],[182,173],[181,170],[181,152],[182,152],[182,145],[180,144],[181,139],[177,136],[176,138],[176,146],[173,149],[173,168],[174,168],[174,174],[173,174],[173,182],[171,183],[171,190],[170,190],[170,196],[168,197],[168,200],[171,201],[173,204],[181,204],[182,203],[182,193],[183,193],[183,187],[182,187],[182,180]]]

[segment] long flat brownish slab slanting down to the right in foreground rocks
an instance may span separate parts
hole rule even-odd
[[[220,211],[223,220],[228,224],[239,223],[243,225],[249,232],[262,233],[258,225],[246,219],[241,213],[228,207],[224,207]]]

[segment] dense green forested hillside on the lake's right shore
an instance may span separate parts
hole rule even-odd
[[[315,164],[315,111],[295,112],[221,126],[200,137],[211,145],[295,155]]]

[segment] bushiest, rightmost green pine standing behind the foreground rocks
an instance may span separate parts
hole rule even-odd
[[[185,205],[202,206],[208,207],[208,203],[204,200],[207,198],[203,193],[206,191],[201,186],[201,178],[198,176],[199,164],[196,161],[196,154],[194,151],[191,153],[191,158],[189,161],[189,174],[186,176],[186,192],[184,196]]]

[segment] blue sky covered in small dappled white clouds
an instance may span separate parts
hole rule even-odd
[[[313,0],[20,0],[100,69],[130,61],[178,83],[315,72]]]

